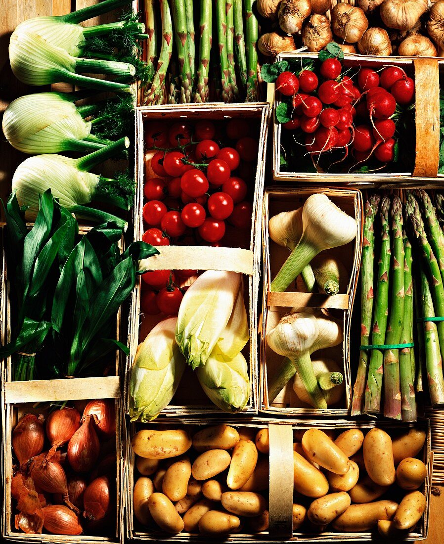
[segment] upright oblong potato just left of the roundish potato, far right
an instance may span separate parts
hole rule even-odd
[[[375,484],[389,486],[396,479],[392,439],[382,429],[367,432],[362,444],[367,474]]]

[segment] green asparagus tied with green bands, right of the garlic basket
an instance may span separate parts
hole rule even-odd
[[[425,376],[431,405],[444,405],[444,196],[435,206],[424,190],[403,196],[373,194],[365,205],[352,416],[416,421]]]

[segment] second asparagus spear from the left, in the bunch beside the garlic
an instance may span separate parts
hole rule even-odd
[[[378,282],[374,300],[372,344],[384,344],[387,327],[387,308],[389,307],[389,267],[390,267],[390,199],[381,200],[381,252],[378,263]],[[383,389],[384,357],[380,349],[372,349],[368,364],[367,387],[365,392],[365,412],[379,413]]]

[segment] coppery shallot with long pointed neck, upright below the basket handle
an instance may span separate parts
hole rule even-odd
[[[100,453],[100,443],[94,429],[94,416],[83,416],[82,425],[68,444],[68,461],[76,472],[88,472]]]

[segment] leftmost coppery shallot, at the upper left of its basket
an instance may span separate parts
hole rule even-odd
[[[20,419],[13,430],[13,449],[18,463],[23,465],[29,459],[39,455],[45,441],[43,416],[27,413]]]

